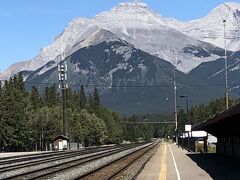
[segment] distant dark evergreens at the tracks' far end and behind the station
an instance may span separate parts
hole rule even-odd
[[[235,106],[240,103],[240,99],[229,99],[229,107]],[[205,120],[208,120],[212,116],[223,112],[226,109],[225,98],[219,98],[210,101],[208,104],[198,104],[192,106],[187,112],[185,109],[180,109],[178,111],[178,133],[183,133],[185,131],[185,125],[191,124],[196,125]],[[174,122],[173,113],[161,113],[161,114],[146,114],[141,117],[151,122]],[[163,138],[173,138],[176,134],[175,123],[167,124],[156,124],[153,126],[153,136],[163,137]]]

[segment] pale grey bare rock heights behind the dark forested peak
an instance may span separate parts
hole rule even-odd
[[[23,70],[35,71],[63,52],[70,55],[81,47],[94,44],[93,41],[85,41],[85,39],[94,36],[99,28],[109,30],[136,48],[174,65],[178,60],[173,56],[173,51],[177,52],[178,59],[181,60],[178,69],[188,73],[202,62],[221,57],[222,50],[217,46],[223,47],[221,36],[223,18],[229,22],[227,24],[229,38],[238,36],[238,10],[239,4],[225,3],[202,19],[181,22],[162,17],[145,3],[120,3],[110,11],[96,15],[93,19],[74,19],[63,33],[57,36],[52,44],[42,48],[35,58],[12,65],[2,72],[0,78],[6,79]],[[236,39],[229,39],[227,43],[228,49],[238,49]],[[74,48],[76,45],[77,48]]]

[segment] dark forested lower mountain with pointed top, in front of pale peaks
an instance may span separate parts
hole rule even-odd
[[[135,48],[110,31],[100,29],[94,45],[83,47],[66,58],[68,84],[72,89],[97,87],[102,102],[123,114],[169,112],[173,110],[173,65]],[[178,93],[191,96],[191,103],[221,96],[221,88],[205,88],[205,83],[176,70]],[[44,88],[58,83],[56,61],[32,72],[26,84]],[[204,97],[204,98],[203,98]],[[211,99],[210,98],[210,99]]]

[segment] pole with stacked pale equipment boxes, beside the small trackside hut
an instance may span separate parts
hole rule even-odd
[[[67,85],[67,63],[65,59],[65,52],[61,54],[61,62],[58,65],[59,72],[59,88],[62,91],[62,134],[67,135],[66,132],[66,113],[65,113],[65,104],[66,104],[66,89]]]

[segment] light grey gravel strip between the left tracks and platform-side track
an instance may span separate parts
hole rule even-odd
[[[116,159],[119,159],[129,153],[132,153],[138,149],[141,149],[142,147],[146,147],[148,146],[149,144],[145,144],[143,146],[140,146],[140,147],[136,147],[136,148],[132,148],[130,150],[125,150],[125,151],[122,151],[120,153],[117,153],[117,154],[114,154],[114,155],[110,155],[110,156],[107,156],[107,157],[103,157],[103,158],[100,158],[96,161],[93,161],[93,162],[90,162],[90,163],[86,163],[84,165],[79,165],[77,167],[74,167],[72,168],[71,170],[68,170],[67,172],[66,171],[62,171],[61,173],[58,173],[57,175],[55,176],[51,176],[49,177],[49,179],[54,179],[54,180],[59,180],[59,179],[74,179],[78,176],[81,176],[89,171],[92,171],[94,169],[97,169],[103,165],[106,165],[106,164],[109,164],[110,162],[116,160]]]

